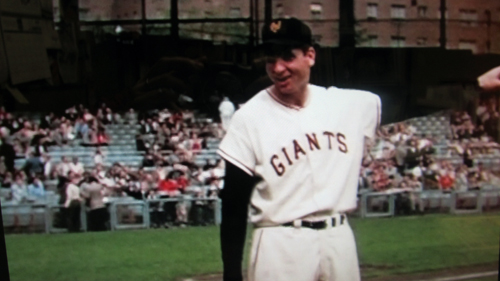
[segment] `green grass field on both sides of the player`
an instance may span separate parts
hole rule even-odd
[[[500,214],[351,219],[364,276],[498,261]],[[12,281],[177,280],[221,271],[217,227],[7,235]]]

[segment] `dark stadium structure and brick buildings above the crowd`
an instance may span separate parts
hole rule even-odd
[[[0,101],[125,110],[151,107],[145,97],[163,87],[215,116],[223,95],[243,103],[268,83],[254,49],[261,26],[293,16],[320,45],[312,81],[376,92],[384,123],[395,122],[471,102],[464,89],[500,64],[499,9],[495,0],[5,0]],[[170,80],[138,88],[173,57],[192,62],[163,64]]]

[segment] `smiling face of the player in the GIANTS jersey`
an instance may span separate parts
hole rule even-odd
[[[310,47],[305,52],[292,49],[280,56],[266,57],[266,72],[278,94],[294,95],[305,91],[315,56],[314,48]]]

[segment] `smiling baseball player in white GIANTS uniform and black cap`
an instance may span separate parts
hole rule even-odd
[[[254,225],[249,280],[359,280],[346,213],[356,208],[365,138],[380,121],[378,96],[309,84],[316,52],[295,19],[263,27],[273,85],[233,115],[218,153],[224,280],[242,280],[248,215]]]

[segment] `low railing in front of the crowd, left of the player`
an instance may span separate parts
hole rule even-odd
[[[157,206],[152,206],[152,205]],[[147,199],[134,200],[128,198],[114,198],[114,200],[106,204],[106,210],[109,214],[107,222],[109,230],[123,229],[146,229],[152,227],[151,215],[156,212],[160,216],[167,212],[165,206],[170,204],[177,211],[177,207],[185,208],[186,220],[182,220],[180,224],[208,224],[212,223],[219,225],[221,222],[221,203],[218,198],[163,198],[163,199]],[[197,209],[199,206],[211,206],[212,208],[203,208],[202,211],[211,211],[210,218],[202,219],[202,222],[196,218],[190,218],[191,210]],[[45,233],[62,233],[67,232],[65,217],[63,214],[64,206],[53,203],[22,203],[15,204],[12,202],[4,202],[2,204],[3,226],[12,228],[30,228],[43,229]],[[80,231],[88,231],[88,212],[91,209],[81,204],[80,208]],[[206,215],[206,213],[205,213]],[[34,219],[38,216],[38,219]],[[176,223],[177,213],[171,219],[171,223]],[[190,220],[191,219],[191,220]],[[194,221],[193,221],[194,220]],[[162,218],[162,224],[166,221]]]

